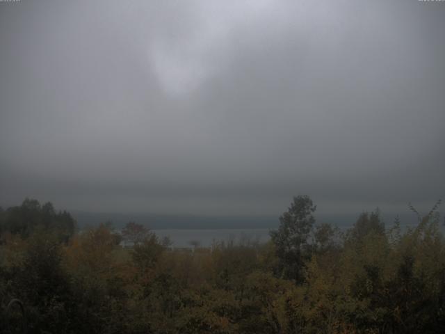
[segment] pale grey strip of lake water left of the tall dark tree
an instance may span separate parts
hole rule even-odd
[[[261,243],[268,241],[269,229],[214,229],[214,230],[152,230],[159,239],[169,237],[172,241],[172,247],[191,248],[191,241],[197,241],[199,246],[210,247],[213,242],[220,241],[259,241]]]

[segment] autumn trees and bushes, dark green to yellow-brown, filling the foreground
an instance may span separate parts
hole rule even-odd
[[[0,209],[0,326],[20,299],[29,333],[445,333],[437,205],[411,208],[414,228],[376,210],[340,232],[297,196],[266,244],[184,252],[135,222],[79,231],[26,199]]]

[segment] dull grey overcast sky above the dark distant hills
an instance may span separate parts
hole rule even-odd
[[[0,152],[2,206],[428,209],[445,2],[0,2]]]

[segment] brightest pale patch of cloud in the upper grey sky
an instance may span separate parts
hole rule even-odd
[[[229,35],[237,26],[256,25],[267,15],[273,1],[202,1],[196,6],[191,31],[169,31],[150,45],[149,58],[159,84],[169,95],[184,95],[216,75],[227,52]],[[273,8],[274,10],[276,8]]]

